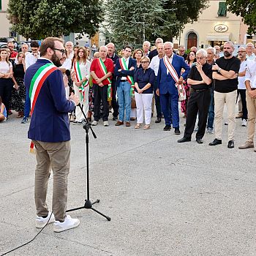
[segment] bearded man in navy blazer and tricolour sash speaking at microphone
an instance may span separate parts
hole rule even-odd
[[[37,208],[36,227],[54,222],[53,230],[61,232],[79,225],[79,219],[66,216],[67,176],[69,174],[70,132],[68,113],[78,105],[78,97],[66,98],[60,59],[65,55],[63,41],[48,37],[40,47],[41,58],[25,74],[25,86],[31,100],[29,139],[35,146],[34,198]],[[33,145],[34,144],[34,145]],[[53,170],[53,214],[46,195],[50,169]]]

